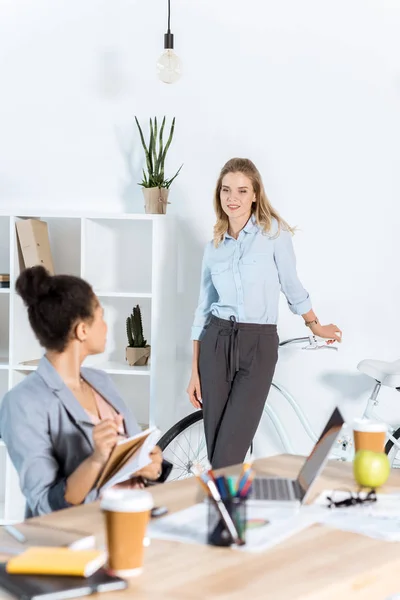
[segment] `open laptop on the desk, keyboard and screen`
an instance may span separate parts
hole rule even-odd
[[[338,408],[335,408],[311,454],[306,458],[297,479],[255,477],[249,500],[302,504],[324,468],[343,423],[342,414]]]

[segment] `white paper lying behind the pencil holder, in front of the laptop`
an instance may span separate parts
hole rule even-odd
[[[243,552],[263,552],[317,522],[321,509],[266,508],[250,506],[247,510],[246,545],[232,546]],[[208,506],[205,502],[186,510],[151,521],[150,538],[173,540],[188,544],[207,543]]]

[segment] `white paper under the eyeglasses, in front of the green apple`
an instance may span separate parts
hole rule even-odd
[[[338,500],[346,494],[334,493]],[[327,496],[331,494],[332,490],[326,490],[316,500],[316,506],[325,507],[319,513],[320,523],[378,540],[400,541],[400,494],[378,494],[377,502],[371,504],[329,509]]]

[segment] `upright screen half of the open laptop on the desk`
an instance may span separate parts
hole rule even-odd
[[[304,500],[311,485],[323,469],[343,423],[344,419],[340,410],[335,408],[321,433],[319,440],[315,444],[310,456],[306,459],[297,477],[297,482],[299,483],[302,492],[301,500]]]

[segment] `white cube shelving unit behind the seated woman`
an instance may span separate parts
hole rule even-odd
[[[104,307],[106,351],[89,357],[85,366],[110,374],[140,423],[166,431],[175,400],[177,298],[176,221],[168,215],[0,213],[0,273],[10,273],[10,289],[0,288],[0,403],[36,369],[23,363],[43,355],[15,292],[23,268],[15,225],[29,217],[48,224],[56,274],[86,279]],[[151,345],[146,367],[125,361],[125,323],[136,304]],[[0,523],[21,520],[24,508],[17,474],[0,439]]]

